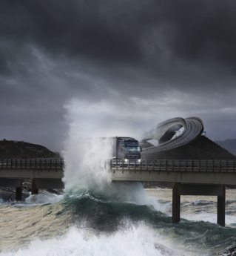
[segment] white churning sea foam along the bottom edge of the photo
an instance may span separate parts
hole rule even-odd
[[[27,249],[4,252],[1,256],[181,256],[183,254],[156,243],[157,234],[144,225],[130,226],[114,234],[96,234],[91,229],[72,227],[60,239],[34,240]]]

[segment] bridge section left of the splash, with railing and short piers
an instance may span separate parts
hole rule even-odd
[[[39,188],[64,188],[64,160],[53,159],[1,159],[0,187],[16,187],[16,200],[22,197],[22,181],[32,180],[32,194]]]

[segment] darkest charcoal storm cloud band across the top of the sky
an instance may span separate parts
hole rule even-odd
[[[109,62],[172,58],[235,66],[235,1],[1,1],[1,37]],[[152,31],[156,30],[153,37]]]

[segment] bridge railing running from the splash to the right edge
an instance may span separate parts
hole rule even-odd
[[[236,171],[236,160],[107,160],[105,167],[111,170],[139,171]]]

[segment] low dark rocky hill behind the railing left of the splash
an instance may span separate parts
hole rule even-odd
[[[60,157],[42,145],[16,140],[0,140],[0,159],[33,159]]]

